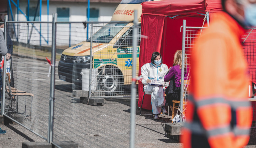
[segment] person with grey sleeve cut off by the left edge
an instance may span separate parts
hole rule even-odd
[[[0,31],[0,57],[5,56],[6,54],[7,54],[7,47],[5,45],[3,33],[2,33],[2,31]],[[2,71],[0,70],[0,88],[2,88],[2,86],[3,86]],[[1,96],[2,96],[2,91],[0,93],[0,98],[1,98]],[[1,101],[1,99],[0,99],[0,101]],[[1,106],[1,104],[0,104],[0,106]],[[2,130],[0,128],[0,135],[4,135],[4,134],[6,134],[6,131]]]

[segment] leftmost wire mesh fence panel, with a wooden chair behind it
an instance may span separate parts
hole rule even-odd
[[[51,32],[51,24],[7,22],[7,27],[11,59],[6,62],[10,81],[6,81],[5,102],[9,109],[5,115],[46,139],[50,79],[45,57],[51,58],[51,47],[47,43],[50,40],[46,42],[43,36]]]

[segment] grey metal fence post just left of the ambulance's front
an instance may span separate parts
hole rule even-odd
[[[55,56],[56,56],[56,20],[57,13],[53,14],[52,25],[52,61],[51,61],[51,84],[50,84],[50,99],[49,99],[49,122],[47,142],[53,142],[53,112],[54,112],[54,85],[55,85]]]

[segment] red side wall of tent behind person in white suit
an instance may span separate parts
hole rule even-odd
[[[154,15],[142,15],[141,20],[141,47],[140,47],[140,62],[139,62],[139,76],[141,75],[141,67],[151,62],[152,53],[155,51],[160,52],[163,26],[165,22],[164,16],[154,16]],[[141,107],[143,98],[143,87],[142,83],[139,82],[139,102],[138,107]],[[151,95],[145,95],[143,106],[144,109],[152,109]]]

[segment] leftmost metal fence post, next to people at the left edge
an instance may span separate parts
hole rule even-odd
[[[7,27],[6,27],[6,21],[8,20],[8,16],[4,17],[4,40],[5,40],[5,45],[7,44]],[[1,59],[2,60],[2,59]],[[5,77],[6,77],[6,55],[4,56],[4,64],[3,64],[3,74],[2,74],[2,108],[1,108],[1,116],[3,116],[4,111],[5,111]],[[10,87],[10,86],[9,86]]]

